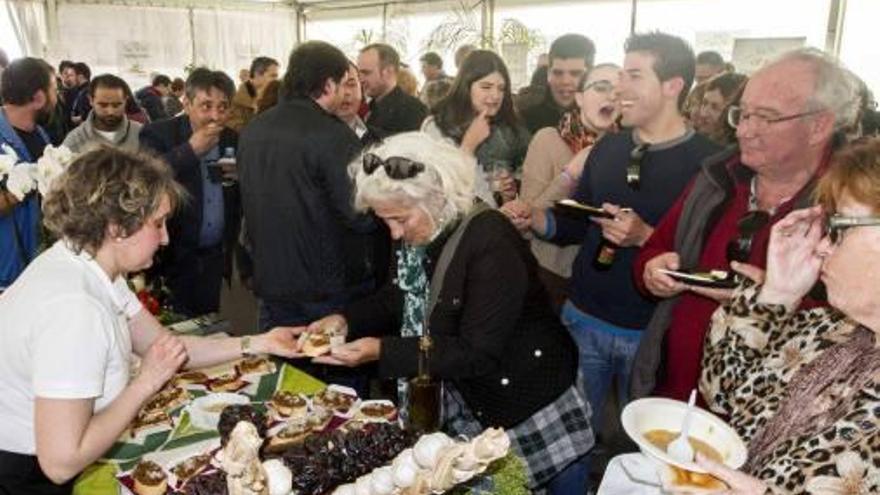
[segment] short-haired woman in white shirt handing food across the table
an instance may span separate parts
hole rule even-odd
[[[60,240],[0,296],[0,493],[67,494],[182,366],[294,354],[290,328],[178,337],[126,275],[168,244],[185,193],[165,162],[102,147],[77,158],[43,203]],[[141,357],[130,379],[131,354]]]

